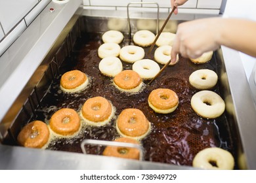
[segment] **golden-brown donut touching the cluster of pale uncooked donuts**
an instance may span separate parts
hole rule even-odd
[[[121,71],[114,77],[114,86],[123,92],[139,92],[142,84],[142,78],[133,70]]]

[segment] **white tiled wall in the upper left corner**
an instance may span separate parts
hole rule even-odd
[[[0,0],[0,57],[50,1]]]

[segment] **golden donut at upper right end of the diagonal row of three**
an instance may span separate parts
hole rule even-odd
[[[86,124],[94,126],[106,125],[114,116],[114,107],[104,97],[87,99],[81,109],[81,117]]]

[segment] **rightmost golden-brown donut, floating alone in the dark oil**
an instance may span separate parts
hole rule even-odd
[[[173,90],[158,88],[150,92],[148,105],[157,113],[168,114],[179,105],[179,97]]]

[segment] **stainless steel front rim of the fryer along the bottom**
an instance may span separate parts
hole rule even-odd
[[[47,169],[47,170],[114,170],[114,169],[192,169],[163,163],[137,161],[113,157],[85,155],[70,152],[57,152],[51,150],[28,149],[16,146],[3,146],[0,144],[0,169]]]

